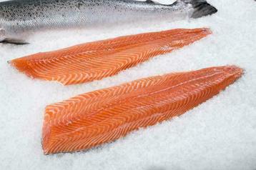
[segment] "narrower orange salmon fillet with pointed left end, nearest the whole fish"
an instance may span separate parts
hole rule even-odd
[[[211,34],[210,29],[172,29],[95,41],[9,61],[31,78],[80,84],[117,74],[147,59]]]

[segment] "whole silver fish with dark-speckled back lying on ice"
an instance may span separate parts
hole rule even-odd
[[[122,24],[159,18],[198,18],[217,12],[205,0],[164,5],[133,0],[12,0],[0,3],[0,42],[24,43],[31,32]]]

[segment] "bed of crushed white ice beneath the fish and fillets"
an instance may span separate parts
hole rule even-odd
[[[49,31],[31,44],[0,44],[0,169],[256,169],[256,2],[208,0],[219,11],[189,21],[152,21],[104,29]],[[167,0],[165,2],[168,2]],[[213,34],[101,81],[74,86],[30,79],[7,61],[87,41],[174,28]],[[186,114],[97,149],[45,156],[44,107],[77,94],[173,71],[235,64],[241,79]]]

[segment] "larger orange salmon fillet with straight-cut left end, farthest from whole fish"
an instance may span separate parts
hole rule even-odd
[[[44,154],[90,149],[184,114],[241,75],[237,66],[219,66],[152,76],[46,106]]]

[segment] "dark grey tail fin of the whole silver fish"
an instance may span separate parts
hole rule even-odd
[[[178,3],[179,1],[192,5],[193,12],[190,17],[193,19],[215,14],[217,12],[217,9],[214,6],[208,4],[206,0],[178,0],[176,2]]]

